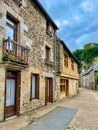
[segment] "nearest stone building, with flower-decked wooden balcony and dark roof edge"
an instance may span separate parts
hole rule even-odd
[[[38,0],[0,0],[0,121],[55,100],[57,29]]]

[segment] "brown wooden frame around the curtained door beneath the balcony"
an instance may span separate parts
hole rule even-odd
[[[7,78],[9,78],[9,76],[7,75],[7,71],[14,71],[16,72],[16,94],[15,94],[15,98],[16,98],[16,114],[15,115],[20,115],[20,88],[21,88],[21,71],[17,71],[17,70],[11,70],[11,69],[6,69],[5,70],[5,96],[4,96],[4,120],[7,118],[6,117],[6,113],[5,113],[5,109],[6,109],[6,81]],[[11,117],[11,116],[10,116]]]

